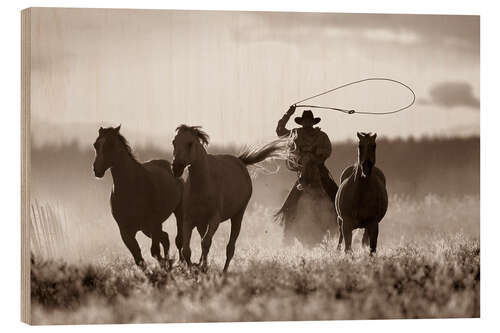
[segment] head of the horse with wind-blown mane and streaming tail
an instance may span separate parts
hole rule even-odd
[[[180,125],[176,128],[174,141],[174,161],[172,171],[174,176],[182,176],[184,168],[195,162],[205,153],[204,146],[208,145],[209,136],[200,126]]]

